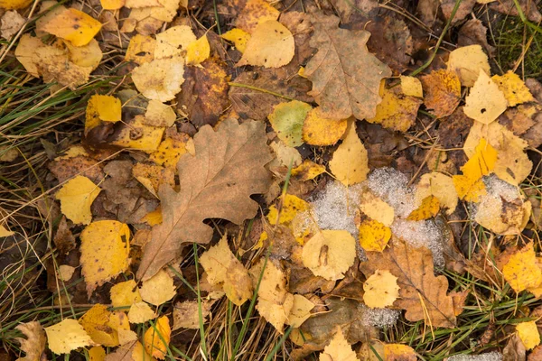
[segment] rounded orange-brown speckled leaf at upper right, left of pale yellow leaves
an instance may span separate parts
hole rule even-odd
[[[421,79],[424,103],[437,118],[450,116],[461,101],[461,83],[451,70],[433,70]]]

